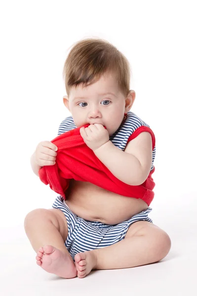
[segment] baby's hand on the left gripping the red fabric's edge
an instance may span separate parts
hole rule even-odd
[[[50,141],[40,142],[35,151],[36,163],[39,166],[55,164],[57,155],[55,151],[57,151],[57,146]]]

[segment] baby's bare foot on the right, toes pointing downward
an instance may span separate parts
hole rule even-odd
[[[90,271],[96,267],[97,256],[94,252],[88,251],[78,253],[75,256],[75,265],[78,271],[78,277],[85,277]]]

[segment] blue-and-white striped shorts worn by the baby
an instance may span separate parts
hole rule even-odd
[[[61,210],[66,217],[68,237],[65,246],[74,261],[75,255],[80,252],[104,248],[121,241],[124,239],[129,226],[134,222],[147,221],[153,223],[152,219],[148,217],[152,208],[147,208],[127,221],[108,225],[80,218],[70,210],[61,195],[57,196],[52,207]]]

